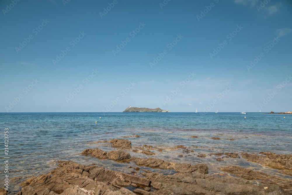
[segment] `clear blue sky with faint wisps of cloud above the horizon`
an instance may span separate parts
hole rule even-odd
[[[289,0],[0,8],[0,112],[292,111]]]

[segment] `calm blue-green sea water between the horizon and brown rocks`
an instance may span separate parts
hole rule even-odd
[[[100,118],[101,117],[101,118]],[[244,118],[246,117],[246,118]],[[285,118],[284,118],[285,117]],[[129,164],[98,160],[80,153],[87,148],[114,150],[110,139],[128,139],[133,149],[151,145],[154,156],[128,151],[131,156],[161,158],[180,163],[207,163],[209,173],[218,167],[241,165],[277,175],[277,171],[244,159],[215,161],[213,152],[291,153],[292,115],[263,113],[0,113],[2,141],[4,128],[9,128],[9,177],[12,190],[28,176],[50,172],[59,160],[81,164],[97,163],[112,170],[123,170]],[[97,122],[95,122],[97,121]],[[141,137],[133,137],[140,135]],[[190,138],[195,135],[198,138]],[[220,140],[210,139],[220,137]],[[229,140],[233,138],[234,140]],[[174,146],[184,145],[194,153],[185,154]],[[158,152],[157,149],[163,149]],[[4,144],[0,149],[1,181],[4,183]],[[197,157],[206,154],[205,158]],[[194,155],[195,154],[195,155]],[[179,156],[183,155],[183,157]],[[126,169],[125,169],[126,171]],[[171,173],[171,170],[166,172]],[[282,177],[287,177],[281,175]]]

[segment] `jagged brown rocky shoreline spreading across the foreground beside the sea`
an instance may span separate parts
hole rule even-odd
[[[32,177],[22,182],[23,187],[18,195],[134,195],[134,194],[284,194],[292,195],[292,179],[281,178],[246,169],[239,166],[220,167],[221,171],[230,173],[209,175],[208,165],[174,163],[158,158],[138,158],[131,156],[127,151],[132,150],[131,141],[126,139],[110,140],[112,148],[117,150],[103,151],[100,149],[85,149],[81,154],[92,158],[116,161],[121,165],[128,166],[130,163],[137,167],[128,166],[130,173],[125,171],[109,170],[105,167],[81,165],[72,161],[60,161],[59,167],[48,174]],[[140,152],[152,146],[144,145],[133,149]],[[183,153],[194,153],[183,145],[175,146],[174,149],[182,150]],[[143,152],[140,152],[143,153]],[[145,155],[152,155],[148,152]],[[155,154],[155,153],[154,153]],[[218,156],[218,159],[244,158],[249,162],[260,163],[265,166],[279,169],[278,172],[292,175],[292,155],[275,154],[271,152],[260,153],[210,153],[210,156]],[[204,158],[206,154],[199,154]],[[128,164],[128,165],[127,165]],[[149,170],[148,168],[152,168]],[[160,170],[174,170],[174,174],[161,173]],[[224,173],[223,172],[223,173]],[[255,182],[257,184],[255,184]],[[0,189],[0,195],[6,194]]]

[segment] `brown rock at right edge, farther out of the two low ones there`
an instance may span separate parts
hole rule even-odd
[[[285,168],[292,170],[292,154],[275,154],[271,152],[260,152],[262,155],[242,153],[242,157],[247,161],[260,163],[262,165]]]

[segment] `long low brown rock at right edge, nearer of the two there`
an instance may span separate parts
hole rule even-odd
[[[229,166],[227,168],[220,168],[223,171],[235,174],[247,180],[261,180],[261,183],[265,184],[276,184],[282,188],[292,189],[292,179],[284,179],[280,177],[275,177],[260,171],[254,171],[251,169],[245,169],[238,166]]]

